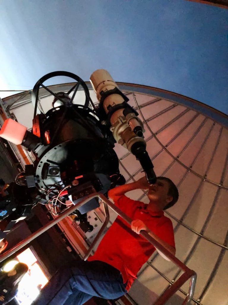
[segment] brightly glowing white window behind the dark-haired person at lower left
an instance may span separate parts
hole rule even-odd
[[[30,248],[20,253],[16,258],[19,262],[25,263],[29,267],[29,271],[19,283],[16,300],[19,304],[30,305],[44,285],[47,284],[47,274],[43,271],[38,258]]]

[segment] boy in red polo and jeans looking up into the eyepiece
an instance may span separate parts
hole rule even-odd
[[[148,189],[148,205],[124,195],[135,189]],[[118,216],[95,254],[88,261],[74,262],[58,270],[33,304],[82,305],[92,296],[104,299],[123,296],[155,251],[154,246],[139,235],[141,230],[175,255],[172,222],[163,212],[178,200],[178,190],[170,179],[157,177],[156,183],[149,185],[143,177],[111,189],[108,195],[133,220],[131,226]]]

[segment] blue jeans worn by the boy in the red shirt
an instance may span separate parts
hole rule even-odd
[[[118,299],[127,292],[126,285],[120,271],[109,264],[80,260],[58,270],[33,305],[82,305],[93,296]]]

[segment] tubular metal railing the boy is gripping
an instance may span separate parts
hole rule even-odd
[[[64,211],[62,214],[60,214],[58,217],[50,221],[49,223],[45,224],[42,228],[28,236],[26,239],[19,242],[16,246],[12,247],[8,251],[6,251],[4,254],[0,255],[0,262],[5,260],[6,258],[10,257],[12,254],[14,254],[16,251],[21,249],[22,247],[26,246],[29,242],[31,242],[33,239],[53,227],[55,224],[57,224],[59,221],[64,219],[66,216],[73,213],[75,210],[77,210],[80,206],[87,203],[92,198],[99,198],[102,200],[105,210],[105,222],[102,225],[102,228],[98,232],[97,236],[95,237],[94,241],[92,242],[91,246],[88,249],[88,252],[86,253],[84,260],[87,260],[90,253],[92,252],[92,249],[95,247],[96,243],[100,239],[103,231],[107,227],[107,224],[109,222],[109,210],[108,206],[116,212],[120,217],[123,218],[124,221],[126,221],[128,224],[131,224],[131,219],[125,215],[117,206],[115,206],[109,199],[107,199],[103,194],[100,193],[94,193],[87,197],[85,197],[83,200],[81,200],[79,203],[77,203],[74,206],[71,206],[69,209]],[[159,242],[157,242],[154,238],[152,238],[146,231],[141,231],[140,234],[148,240],[151,244],[154,245],[154,247],[158,250],[160,250],[166,257],[168,257],[174,264],[176,264],[184,273],[171,285],[171,287],[166,290],[154,303],[154,305],[163,305],[165,304],[168,299],[174,295],[175,292],[178,291],[178,289],[190,279],[189,289],[188,289],[188,295],[186,296],[184,302],[182,305],[190,304],[194,290],[195,290],[195,282],[196,282],[196,273],[195,271],[189,269],[185,264],[183,264],[180,260],[178,260],[173,254],[171,254],[167,249],[165,249]]]

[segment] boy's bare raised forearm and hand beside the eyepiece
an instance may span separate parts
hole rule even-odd
[[[141,189],[148,189],[149,183],[147,182],[146,177],[140,178],[138,181],[124,184],[117,186],[116,188],[112,188],[108,192],[108,196],[110,199],[112,199],[114,202],[116,202],[119,197],[123,196],[125,193],[136,190],[138,188]]]

